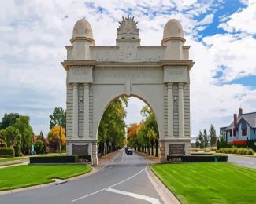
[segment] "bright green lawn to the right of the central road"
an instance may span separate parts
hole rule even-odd
[[[150,168],[182,203],[256,203],[256,169],[228,162]]]

